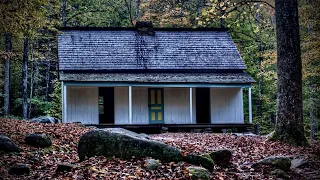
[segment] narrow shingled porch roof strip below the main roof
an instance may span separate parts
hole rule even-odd
[[[128,83],[209,83],[251,84],[255,80],[246,72],[238,73],[65,73],[61,81]]]

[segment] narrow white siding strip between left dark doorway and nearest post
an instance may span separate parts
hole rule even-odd
[[[132,103],[132,106],[133,103]],[[130,124],[129,122],[129,87],[114,88],[114,123]]]

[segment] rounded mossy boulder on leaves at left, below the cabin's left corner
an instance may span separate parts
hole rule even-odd
[[[24,141],[34,147],[49,147],[52,145],[50,136],[45,134],[29,134],[24,138]]]

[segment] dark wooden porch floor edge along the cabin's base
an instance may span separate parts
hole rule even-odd
[[[250,132],[252,124],[86,124],[97,128],[124,128],[137,133],[156,134],[161,133],[163,128],[169,132],[204,132],[206,128],[211,128],[213,132],[221,133],[223,129],[232,132]]]

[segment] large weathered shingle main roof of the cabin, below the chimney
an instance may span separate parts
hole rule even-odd
[[[60,71],[243,70],[245,64],[227,31],[71,29],[58,36]]]

